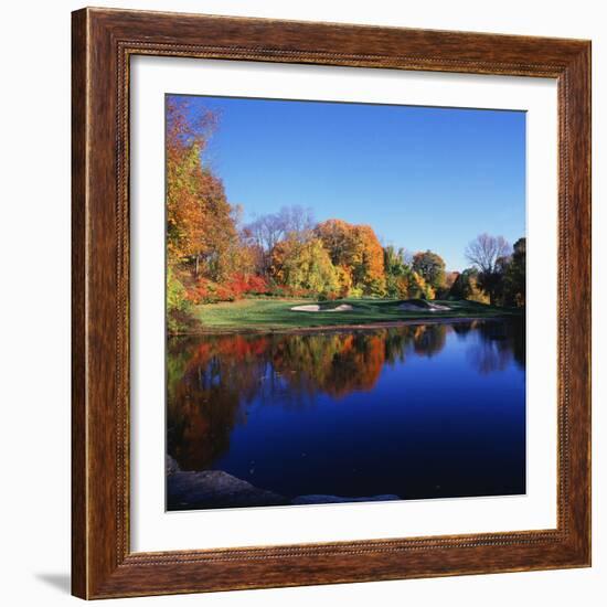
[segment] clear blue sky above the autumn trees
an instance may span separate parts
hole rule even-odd
[[[469,264],[477,234],[525,234],[525,114],[188,97],[219,114],[203,161],[245,221],[280,206],[370,224],[384,245]]]

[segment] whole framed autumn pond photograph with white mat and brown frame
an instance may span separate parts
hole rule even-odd
[[[590,564],[590,43],[73,13],[73,593]]]

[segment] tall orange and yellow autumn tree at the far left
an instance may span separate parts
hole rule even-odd
[[[238,209],[230,204],[221,179],[203,161],[215,126],[213,113],[169,99],[166,221],[170,331],[195,323],[192,303],[233,298],[224,285],[254,265],[254,252],[243,246],[238,232]]]

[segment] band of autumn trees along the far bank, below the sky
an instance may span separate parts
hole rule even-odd
[[[409,255],[382,246],[369,225],[316,223],[299,206],[243,224],[222,181],[201,160],[216,126],[181,104],[167,108],[167,257],[169,321],[192,305],[247,295],[472,298],[524,305],[524,239],[479,236],[467,249],[471,268],[446,273],[432,252]],[[522,274],[521,274],[522,273]],[[522,279],[522,283],[521,283]],[[522,285],[522,286],[521,286]]]

